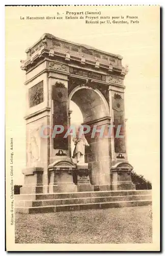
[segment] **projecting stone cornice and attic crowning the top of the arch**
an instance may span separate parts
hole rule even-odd
[[[122,56],[120,55],[73,43],[51,34],[44,34],[32,47],[26,50],[26,53],[27,59],[21,60],[21,69],[25,70],[26,73],[30,72],[37,62],[48,57],[52,61],[61,58],[66,65],[73,65],[77,62],[78,66],[91,65],[96,71],[116,72],[122,76],[125,76],[128,71],[127,67],[122,66]]]

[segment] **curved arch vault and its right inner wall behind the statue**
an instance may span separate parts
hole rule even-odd
[[[102,93],[89,86],[75,87],[69,97],[70,101],[76,103],[79,107],[84,123],[92,126],[97,125],[97,129],[102,124],[109,124],[109,107]],[[68,107],[69,107],[68,105]],[[102,120],[104,120],[102,122]],[[90,147],[86,148],[85,161],[88,162],[89,168],[92,170],[91,183],[93,185],[109,185],[110,184],[110,168],[111,168],[111,141],[108,138],[86,136]]]

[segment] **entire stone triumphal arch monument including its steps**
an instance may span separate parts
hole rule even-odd
[[[131,181],[133,167],[127,161],[124,77],[128,68],[122,66],[122,56],[51,34],[44,34],[26,54],[26,60],[21,61],[21,69],[26,72],[26,168],[23,170],[24,185],[20,189],[24,203],[20,206],[18,200],[17,211],[49,211],[51,207],[46,208],[43,200],[57,199],[57,195],[63,193],[67,198],[73,194],[73,198],[88,196],[90,200],[80,200],[80,205],[90,201],[93,202],[91,207],[97,203],[91,197],[139,196]],[[71,100],[81,110],[84,118],[81,125],[91,127],[83,138],[74,139],[73,156],[71,136],[65,136],[70,127]],[[111,125],[115,133],[120,126],[123,136],[98,136],[103,130],[107,135]],[[56,130],[56,136],[52,136],[55,126],[64,129]],[[76,158],[76,163],[72,157]],[[74,182],[74,174],[77,182]],[[146,194],[148,198],[144,201],[149,204],[150,195]],[[42,198],[40,204],[33,202],[39,198]],[[27,199],[32,200],[31,205]],[[57,203],[51,202],[51,206],[54,205]],[[69,210],[87,207],[77,206],[75,201],[73,205]],[[97,207],[102,207],[100,201]],[[59,208],[55,208],[58,211]],[[67,209],[66,206],[64,210]]]

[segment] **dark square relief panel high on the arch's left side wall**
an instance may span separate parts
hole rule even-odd
[[[43,102],[43,81],[29,89],[29,106],[38,105]]]

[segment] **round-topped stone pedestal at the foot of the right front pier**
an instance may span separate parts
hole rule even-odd
[[[127,163],[118,163],[112,167],[112,190],[134,190],[135,184],[131,180],[131,170],[133,167]]]

